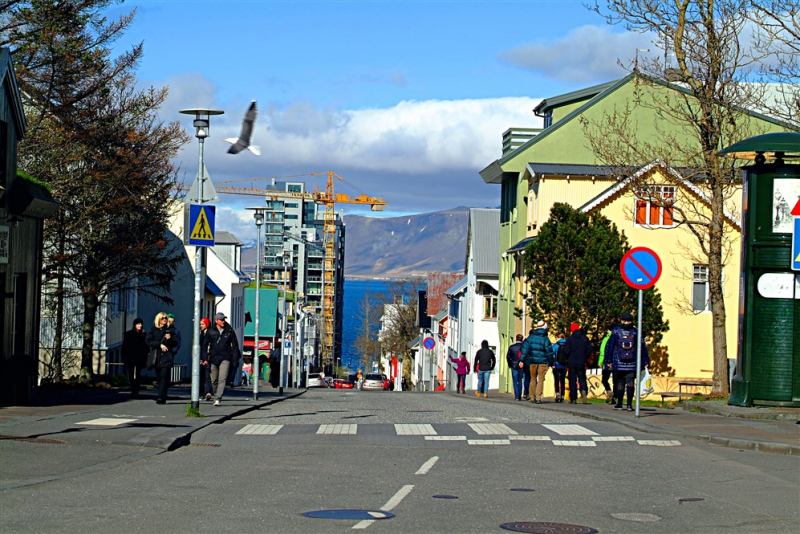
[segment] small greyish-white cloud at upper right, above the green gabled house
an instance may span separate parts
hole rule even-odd
[[[553,42],[529,43],[501,53],[501,59],[553,79],[573,83],[598,83],[619,78],[618,65],[633,61],[637,48],[652,48],[652,36],[633,32],[612,33],[608,28],[581,26]]]

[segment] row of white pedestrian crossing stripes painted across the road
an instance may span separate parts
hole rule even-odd
[[[85,424],[88,423],[90,422],[87,421]],[[421,437],[425,441],[466,442],[467,445],[475,446],[512,445],[513,443],[520,442],[549,442],[556,447],[596,447],[598,443],[631,443],[653,447],[676,447],[681,445],[681,442],[678,440],[636,439],[633,436],[601,436],[594,430],[575,424],[534,425],[520,423],[514,425],[517,427],[515,429],[504,423],[450,423],[440,426],[439,430],[435,428],[436,425],[432,424],[362,424],[360,426],[363,427],[362,434],[372,438],[385,437],[393,434],[403,437]],[[359,434],[359,425],[357,424],[248,424],[239,428],[235,432],[235,435],[286,435],[288,427],[291,428],[288,434],[295,436],[309,435],[312,433],[319,436],[356,436]],[[538,434],[535,431],[536,428],[547,430],[554,435]],[[466,433],[464,432],[465,430],[467,430]],[[472,431],[472,435],[469,433],[470,430]],[[440,435],[440,432],[444,432],[447,435]],[[461,433],[459,434],[458,432]],[[573,436],[577,438],[573,438]]]

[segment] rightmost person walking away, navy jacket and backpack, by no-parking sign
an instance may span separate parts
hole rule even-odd
[[[642,368],[650,365],[647,355],[647,344],[639,338],[639,333],[633,326],[633,316],[625,312],[619,317],[620,325],[611,331],[611,337],[606,343],[605,360],[611,360],[614,370],[614,397],[616,398],[615,410],[622,410],[622,397],[628,395],[626,409],[633,411],[634,381],[636,380],[636,344],[642,346]],[[623,389],[624,388],[624,389]]]

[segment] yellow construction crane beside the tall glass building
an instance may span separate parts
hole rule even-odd
[[[258,182],[264,180],[271,180],[272,178],[246,178],[242,180],[227,180],[223,182],[217,182],[217,184],[219,185],[215,184],[215,188],[217,190],[217,193],[222,195],[251,195],[251,196],[265,197],[268,199],[296,198],[302,200],[309,200],[325,206],[325,214],[323,216],[323,224],[322,224],[323,246],[325,249],[324,276],[322,285],[322,296],[323,296],[322,311],[324,318],[323,321],[324,331],[322,335],[322,363],[323,365],[327,365],[328,363],[330,363],[330,358],[333,354],[333,310],[334,310],[334,297],[336,289],[334,284],[334,275],[335,275],[334,267],[336,263],[335,247],[334,247],[334,241],[336,238],[336,212],[334,210],[334,206],[336,204],[362,204],[362,205],[366,204],[370,206],[370,209],[372,211],[383,211],[384,206],[386,206],[387,202],[383,200],[383,197],[370,197],[363,193],[353,198],[350,198],[348,195],[343,193],[335,193],[333,190],[334,178],[343,181],[345,183],[348,183],[350,187],[354,186],[349,182],[347,182],[347,180],[345,180],[344,178],[342,178],[341,176],[332,171],[327,171],[325,173],[312,172],[308,174],[295,174],[291,176],[281,176],[281,177],[276,176],[275,178],[287,179],[287,178],[300,178],[305,176],[324,176],[324,175],[327,175],[328,177],[324,192],[320,191],[317,186],[314,186],[313,191],[305,193],[293,193],[289,191],[274,191],[271,189],[258,189],[253,187],[236,187],[236,186],[224,185],[235,182]],[[189,185],[181,184],[179,188],[181,190],[188,190]]]

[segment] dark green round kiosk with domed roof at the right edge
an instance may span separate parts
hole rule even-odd
[[[800,406],[800,133],[720,151],[744,168],[739,350],[728,404]]]

